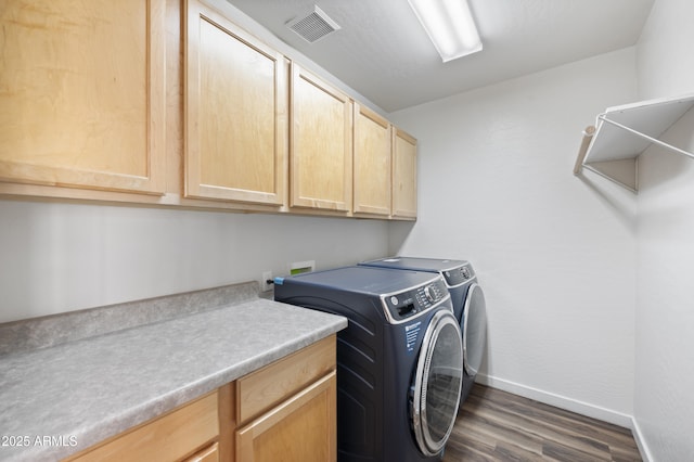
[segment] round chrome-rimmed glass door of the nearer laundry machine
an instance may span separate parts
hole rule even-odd
[[[463,384],[463,343],[452,312],[438,311],[424,334],[414,374],[412,428],[425,455],[440,452],[453,429]]]

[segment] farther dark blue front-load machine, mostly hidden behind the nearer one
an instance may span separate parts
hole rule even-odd
[[[473,266],[466,260],[390,257],[359,265],[439,273],[451,294],[453,310],[463,336],[463,393],[461,403],[470,395],[481,365],[487,342],[487,307],[485,294],[477,283]]]

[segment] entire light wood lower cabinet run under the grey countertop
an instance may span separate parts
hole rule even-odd
[[[67,461],[335,461],[336,336]]]

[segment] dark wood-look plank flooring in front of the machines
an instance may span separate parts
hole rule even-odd
[[[631,431],[475,384],[444,462],[641,461]]]

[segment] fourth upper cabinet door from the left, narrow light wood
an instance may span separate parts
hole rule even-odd
[[[355,103],[354,211],[390,215],[390,124]]]

